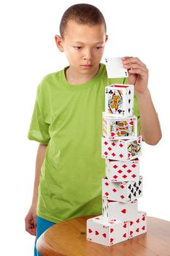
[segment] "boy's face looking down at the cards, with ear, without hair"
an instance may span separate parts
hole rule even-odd
[[[69,66],[74,72],[93,74],[104,53],[107,42],[104,24],[88,26],[69,20],[64,39],[55,36],[58,49],[66,53]]]

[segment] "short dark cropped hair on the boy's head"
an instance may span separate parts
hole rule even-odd
[[[89,26],[104,24],[107,33],[107,25],[104,20],[104,15],[97,7],[91,4],[74,4],[63,13],[60,23],[60,34],[62,38],[64,38],[64,33],[69,20],[74,20],[78,24]]]

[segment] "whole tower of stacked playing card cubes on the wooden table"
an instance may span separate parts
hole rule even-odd
[[[105,89],[101,157],[102,215],[87,220],[87,239],[111,246],[147,231],[146,213],[138,211],[143,178],[139,176],[142,136],[137,136],[134,86],[113,84]]]

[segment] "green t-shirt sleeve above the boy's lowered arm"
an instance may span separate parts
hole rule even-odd
[[[36,140],[39,143],[47,145],[50,141],[49,127],[50,124],[45,121],[42,115],[42,109],[39,105],[39,97],[41,97],[40,86],[36,91],[36,101],[31,118],[31,124],[28,129],[28,139]]]

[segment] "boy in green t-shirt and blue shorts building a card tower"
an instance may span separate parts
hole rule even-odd
[[[90,4],[69,7],[61,19],[60,33],[55,42],[66,53],[69,67],[45,76],[39,84],[28,132],[30,140],[40,143],[34,195],[26,216],[26,230],[36,238],[63,220],[101,214],[105,86],[134,84],[139,132],[151,145],[161,139],[158,116],[147,89],[147,67],[137,58],[124,57],[123,65],[129,73],[126,82],[124,78],[108,79],[105,65],[100,64],[108,39],[101,12]]]

